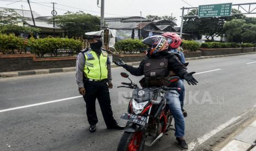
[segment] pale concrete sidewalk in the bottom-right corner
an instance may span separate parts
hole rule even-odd
[[[238,136],[221,151],[256,151],[256,120],[246,127]]]

